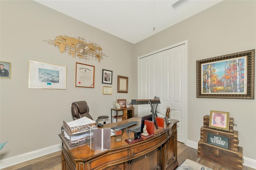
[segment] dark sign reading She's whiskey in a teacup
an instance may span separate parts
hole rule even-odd
[[[207,143],[229,149],[229,138],[225,136],[207,133]]]

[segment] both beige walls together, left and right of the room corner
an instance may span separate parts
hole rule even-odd
[[[142,42],[131,44],[33,1],[0,1],[0,61],[12,63],[12,79],[0,79],[0,158],[10,158],[60,143],[70,105],[86,100],[93,118],[110,115],[116,96],[137,97],[137,57],[188,40],[188,140],[198,142],[203,116],[230,112],[238,125],[244,156],[256,160],[256,101],[196,98],[196,60],[255,49],[256,2],[224,1]],[[157,29],[157,28],[156,28]],[[43,40],[81,36],[98,43],[109,57],[73,58]],[[67,89],[29,89],[28,61],[67,66]],[[75,63],[95,66],[95,88],[74,87]],[[125,64],[124,64],[125,63]],[[113,95],[102,95],[102,69],[113,71]],[[117,75],[129,77],[128,94],[116,93]],[[108,121],[110,122],[110,120]]]

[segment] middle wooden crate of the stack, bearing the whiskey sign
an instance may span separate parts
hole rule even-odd
[[[200,141],[226,149],[238,151],[238,131],[221,131],[201,127]]]

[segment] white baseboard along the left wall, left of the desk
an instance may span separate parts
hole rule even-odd
[[[39,150],[34,150],[32,152],[28,152],[25,154],[17,155],[11,158],[6,158],[0,160],[0,169],[7,168],[9,166],[13,166],[16,164],[20,164],[22,162],[26,162],[28,160],[32,160],[35,158],[39,158],[41,156],[45,156],[47,154],[51,154],[54,152],[58,152],[61,150],[62,144],[56,144],[54,146],[49,146],[47,148],[42,148]]]

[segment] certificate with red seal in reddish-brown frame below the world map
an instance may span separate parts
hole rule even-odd
[[[93,65],[76,63],[76,87],[94,88],[94,70]]]

